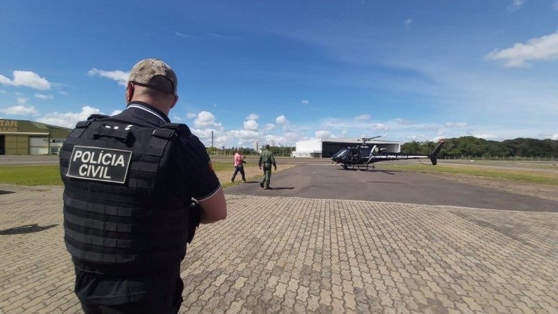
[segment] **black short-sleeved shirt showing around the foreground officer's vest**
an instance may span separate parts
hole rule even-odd
[[[126,110],[111,117],[119,122],[129,123],[127,128],[153,127],[158,128],[170,120],[166,114],[148,103],[133,102]],[[181,147],[172,158],[179,166],[181,177],[186,182],[188,192],[196,200],[204,200],[215,194],[219,188],[219,180],[204,144],[195,135],[181,138]],[[75,293],[86,304],[127,304],[145,300],[157,303],[165,298],[175,297],[182,291],[180,279],[180,261],[174,261],[164,270],[152,274],[133,276],[114,276],[100,274],[87,263],[75,260]],[[167,300],[168,301],[168,300]]]

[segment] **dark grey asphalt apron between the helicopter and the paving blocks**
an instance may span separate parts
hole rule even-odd
[[[381,169],[378,166],[377,169]],[[342,170],[339,165],[304,165],[271,175],[272,190],[257,182],[227,189],[227,193],[366,200],[483,209],[558,211],[558,202],[451,181],[434,174],[407,171]]]

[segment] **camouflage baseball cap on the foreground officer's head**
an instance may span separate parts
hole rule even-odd
[[[135,64],[128,81],[144,84],[165,94],[176,95],[178,80],[167,63],[159,59],[144,59]]]

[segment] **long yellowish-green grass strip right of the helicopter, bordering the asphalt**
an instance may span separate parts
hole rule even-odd
[[[492,179],[506,179],[518,182],[530,182],[538,184],[552,184],[558,186],[558,175],[548,172],[526,171],[526,170],[497,170],[490,168],[459,167],[447,165],[382,165],[382,168],[391,170],[407,170],[413,172],[467,174],[475,177],[487,177]]]

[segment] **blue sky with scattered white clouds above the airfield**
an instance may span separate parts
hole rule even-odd
[[[1,1],[0,117],[123,110],[163,59],[205,144],[558,140],[558,1]]]

